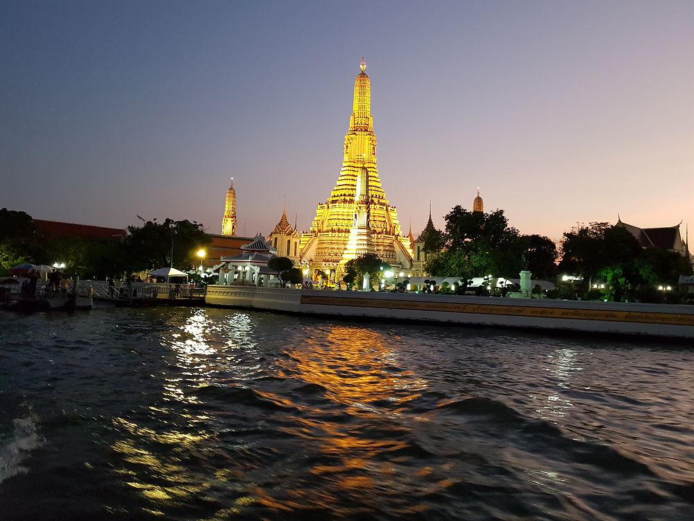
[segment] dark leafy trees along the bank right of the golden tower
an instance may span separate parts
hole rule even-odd
[[[455,206],[445,219],[445,231],[434,229],[425,237],[424,267],[432,276],[511,279],[527,269],[534,279],[555,280],[560,273],[572,274],[580,281],[555,296],[657,302],[682,299],[676,290],[679,276],[692,273],[685,256],[643,249],[627,229],[607,222],[575,226],[564,233],[558,251],[547,237],[518,233],[503,210],[483,213]],[[659,286],[672,292],[659,293]]]

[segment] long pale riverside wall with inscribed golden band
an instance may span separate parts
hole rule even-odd
[[[302,315],[691,339],[694,346],[694,306],[685,305],[249,286],[208,286],[205,302]]]

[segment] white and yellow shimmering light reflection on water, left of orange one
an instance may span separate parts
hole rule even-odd
[[[201,309],[191,313],[183,324],[176,322],[172,315],[169,326],[170,330],[162,333],[160,345],[170,350],[174,356],[173,365],[178,367],[164,373],[162,395],[164,402],[173,402],[174,406],[147,408],[150,416],[161,420],[161,431],[142,427],[123,417],[112,420],[121,439],[116,440],[111,449],[119,454],[123,463],[114,472],[146,501],[148,506],[142,510],[157,516],[164,516],[162,510],[171,504],[185,504],[205,493],[214,483],[238,477],[232,470],[219,470],[200,479],[182,463],[191,454],[199,454],[205,440],[212,438],[214,433],[203,424],[209,420],[207,415],[187,413],[181,406],[200,404],[191,390],[216,382],[219,372],[230,369],[239,372],[235,352],[247,354],[256,348],[251,317],[245,313],[233,314],[228,322],[220,325]],[[248,372],[253,372],[253,368]],[[180,425],[185,426],[186,432],[172,428]],[[162,446],[167,448],[162,449]],[[237,515],[242,513],[244,506],[255,502],[254,497],[239,497],[223,513]]]

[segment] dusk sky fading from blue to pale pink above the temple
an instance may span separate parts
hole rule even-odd
[[[559,240],[694,235],[694,1],[0,0],[0,207],[239,235],[306,231],[341,167],[359,60],[405,233],[456,204]]]

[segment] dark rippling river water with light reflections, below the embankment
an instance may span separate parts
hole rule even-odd
[[[0,314],[3,520],[692,520],[694,349]]]

